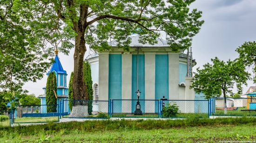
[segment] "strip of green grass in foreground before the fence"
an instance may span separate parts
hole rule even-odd
[[[0,143],[255,141],[255,126],[256,118],[88,120],[0,127]]]

